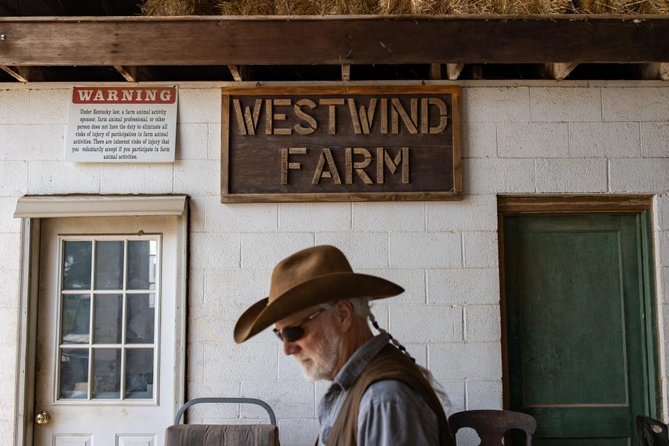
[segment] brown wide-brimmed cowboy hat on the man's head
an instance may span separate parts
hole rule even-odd
[[[334,246],[302,249],[275,266],[270,295],[240,316],[235,325],[235,341],[246,341],[272,323],[315,305],[355,298],[390,298],[403,291],[386,279],[353,272],[344,253]]]

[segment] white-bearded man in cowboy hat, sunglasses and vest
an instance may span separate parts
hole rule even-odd
[[[269,296],[237,321],[237,342],[273,323],[305,378],[332,381],[318,405],[317,446],[453,444],[429,371],[369,311],[369,300],[403,291],[353,272],[339,249],[316,246],[279,262]],[[371,333],[367,318],[380,334]]]

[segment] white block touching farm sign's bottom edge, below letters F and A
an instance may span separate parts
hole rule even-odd
[[[279,229],[284,231],[348,231],[351,203],[279,203]]]

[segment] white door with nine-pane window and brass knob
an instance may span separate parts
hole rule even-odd
[[[42,220],[34,446],[162,446],[176,217]]]

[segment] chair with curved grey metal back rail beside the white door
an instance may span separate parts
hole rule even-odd
[[[247,403],[267,410],[270,424],[179,424],[194,404]],[[196,398],[179,409],[174,425],[165,432],[165,446],[279,446],[279,427],[274,410],[255,398]]]

